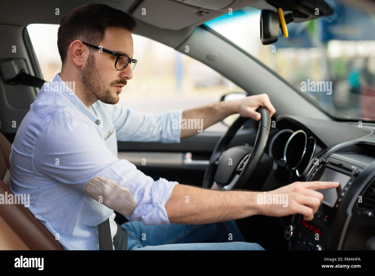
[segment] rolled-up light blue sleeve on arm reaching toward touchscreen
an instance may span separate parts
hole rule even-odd
[[[60,112],[40,128],[33,150],[33,166],[48,176],[84,193],[86,183],[107,177],[130,190],[136,207],[128,220],[146,225],[169,224],[165,203],[178,182],[154,181],[136,166],[118,159],[105,146],[94,122],[84,116]],[[126,204],[124,202],[124,204]]]

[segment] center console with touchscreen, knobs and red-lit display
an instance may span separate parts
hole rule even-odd
[[[309,169],[306,169],[305,181],[338,181],[340,185],[336,189],[317,190],[323,193],[324,198],[319,210],[314,214],[314,219],[304,220],[300,214],[292,217],[290,225],[285,229],[285,238],[288,240],[290,250],[341,249],[339,248],[343,243],[341,236],[343,234],[345,236],[343,232],[346,230],[345,223],[348,224],[347,207],[353,204],[354,207],[358,207],[353,195],[363,184],[363,181],[356,181],[356,179],[369,163],[375,163],[375,158],[360,154],[335,152],[320,156],[322,157],[315,158]],[[355,181],[356,187],[351,189]],[[341,208],[342,202],[345,202],[343,208]],[[366,208],[357,209],[360,210],[360,215],[374,218],[375,212],[368,211]],[[341,219],[338,218],[339,216]],[[333,243],[333,240],[336,240],[336,243]]]

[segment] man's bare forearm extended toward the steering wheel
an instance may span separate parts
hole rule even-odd
[[[222,121],[229,115],[237,113],[239,104],[240,101],[238,100],[222,101],[219,103],[208,104],[207,106],[184,110],[182,113],[182,119],[186,121],[189,119],[196,121],[199,120],[199,129],[192,127],[187,128],[181,124],[181,138],[193,136],[209,126]],[[200,122],[202,124],[200,124]],[[189,124],[189,121],[187,121],[187,124]]]

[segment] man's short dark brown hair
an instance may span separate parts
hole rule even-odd
[[[106,27],[123,27],[134,32],[135,20],[123,11],[102,4],[78,6],[60,21],[57,32],[57,48],[64,64],[69,44],[79,39],[98,45],[104,38]],[[90,53],[93,50],[90,49]]]

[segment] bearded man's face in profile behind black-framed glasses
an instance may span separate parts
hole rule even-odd
[[[132,35],[129,30],[121,27],[107,27],[104,39],[98,46],[133,57]],[[107,104],[118,102],[118,94],[121,93],[119,86],[126,85],[133,74],[130,65],[122,71],[117,70],[115,61],[115,56],[99,50],[90,53],[85,67],[80,70],[81,83],[87,97],[95,97]]]

